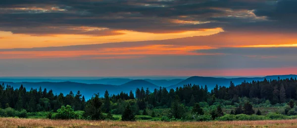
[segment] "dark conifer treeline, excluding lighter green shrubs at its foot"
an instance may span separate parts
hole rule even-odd
[[[166,116],[169,117],[170,120],[172,117],[174,117],[174,119],[181,119],[185,118],[186,112],[190,112],[191,114],[197,112],[199,115],[203,115],[204,112],[201,110],[198,103],[200,103],[200,105],[202,103],[204,106],[205,104],[207,104],[206,106],[211,106],[217,104],[218,100],[224,100],[225,102],[230,102],[230,105],[238,105],[240,98],[243,97],[261,99],[261,101],[267,100],[270,101],[271,104],[285,103],[290,99],[297,99],[297,80],[296,78],[277,80],[264,79],[263,81],[244,81],[237,86],[235,86],[233,82],[230,82],[229,87],[217,85],[210,92],[206,85],[199,86],[191,84],[170,90],[160,87],[159,89],[154,89],[153,92],[150,92],[148,88],[137,88],[135,92],[122,92],[117,95],[109,95],[106,90],[103,96],[94,94],[94,96],[88,100],[82,96],[80,91],[76,92],[76,94],[70,92],[66,95],[62,93],[56,95],[52,90],[48,91],[41,87],[38,90],[33,88],[26,90],[23,85],[16,89],[9,85],[4,86],[4,83],[0,86],[0,108],[9,111],[14,109],[22,112],[53,112],[56,114],[49,115],[49,118],[54,117],[59,119],[69,118],[67,117],[69,113],[65,114],[65,112],[78,113],[76,111],[83,111],[83,114],[75,114],[74,117],[70,117],[70,119],[111,119],[111,114],[123,114],[126,118],[122,120],[135,120],[135,115],[149,115],[151,117],[164,116],[164,114],[161,115],[161,113],[156,114],[156,109],[168,109]],[[60,113],[60,115],[57,113]],[[104,115],[102,113],[108,114]],[[236,106],[236,108],[230,112],[230,114],[233,113],[248,113],[247,115],[251,115],[258,113],[258,111],[254,111],[252,105],[245,102],[243,106]],[[221,105],[216,105],[216,108],[211,111],[209,110],[207,115],[213,117],[222,116]]]

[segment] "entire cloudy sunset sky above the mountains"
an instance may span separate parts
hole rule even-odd
[[[297,0],[1,0],[0,76],[297,74]]]

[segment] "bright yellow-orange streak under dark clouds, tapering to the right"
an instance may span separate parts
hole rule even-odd
[[[199,35],[211,35],[218,32],[223,32],[223,30],[221,28],[216,28],[202,31],[184,31],[178,33],[148,33],[127,30],[116,30],[115,32],[123,34],[109,36],[91,36],[78,34],[52,34],[50,36],[31,36],[28,34],[13,34],[11,32],[0,32],[1,36],[9,37],[0,39],[0,49],[101,44],[109,43],[110,40],[112,40],[113,42],[164,40]],[[117,40],[114,40],[115,38]]]

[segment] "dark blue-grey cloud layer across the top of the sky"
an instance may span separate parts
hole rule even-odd
[[[217,27],[258,31],[260,27],[295,32],[296,4],[297,0],[1,0],[0,30],[45,34],[60,31],[40,32],[40,28],[88,26],[166,33]],[[207,23],[173,23],[174,19]]]

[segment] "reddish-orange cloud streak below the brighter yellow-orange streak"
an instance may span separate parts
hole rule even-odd
[[[211,48],[209,46],[147,45],[140,47],[99,48],[88,51],[2,51],[0,52],[0,59],[74,58],[82,56],[106,56],[91,57],[93,59],[117,59],[135,58],[136,56],[140,58],[145,55],[210,55],[194,51]]]

